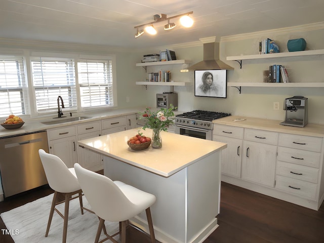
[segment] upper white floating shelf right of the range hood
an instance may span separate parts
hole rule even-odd
[[[280,52],[280,53],[270,53],[270,54],[230,56],[230,57],[226,57],[226,60],[236,61],[236,60],[249,60],[249,59],[262,59],[262,58],[313,56],[313,55],[323,55],[323,54],[324,54],[324,49],[321,49],[321,50],[310,50],[310,51],[300,51],[300,52]]]

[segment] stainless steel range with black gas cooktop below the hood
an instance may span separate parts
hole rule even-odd
[[[176,134],[213,140],[213,120],[229,113],[194,110],[176,115]]]

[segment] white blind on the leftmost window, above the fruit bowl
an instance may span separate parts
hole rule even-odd
[[[0,115],[29,114],[22,57],[0,56]]]

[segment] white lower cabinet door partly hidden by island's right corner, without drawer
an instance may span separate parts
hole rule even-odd
[[[222,150],[222,173],[241,177],[242,140],[214,135],[213,140],[227,143],[227,148]]]

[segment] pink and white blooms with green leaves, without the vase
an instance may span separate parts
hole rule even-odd
[[[173,111],[175,109],[177,109],[177,107],[170,104],[169,109],[161,108],[160,110],[152,112],[150,108],[146,108],[143,113],[139,112],[139,114],[141,114],[140,119],[146,119],[146,124],[143,126],[143,130],[150,128],[152,130],[167,131],[168,126],[174,124]]]

